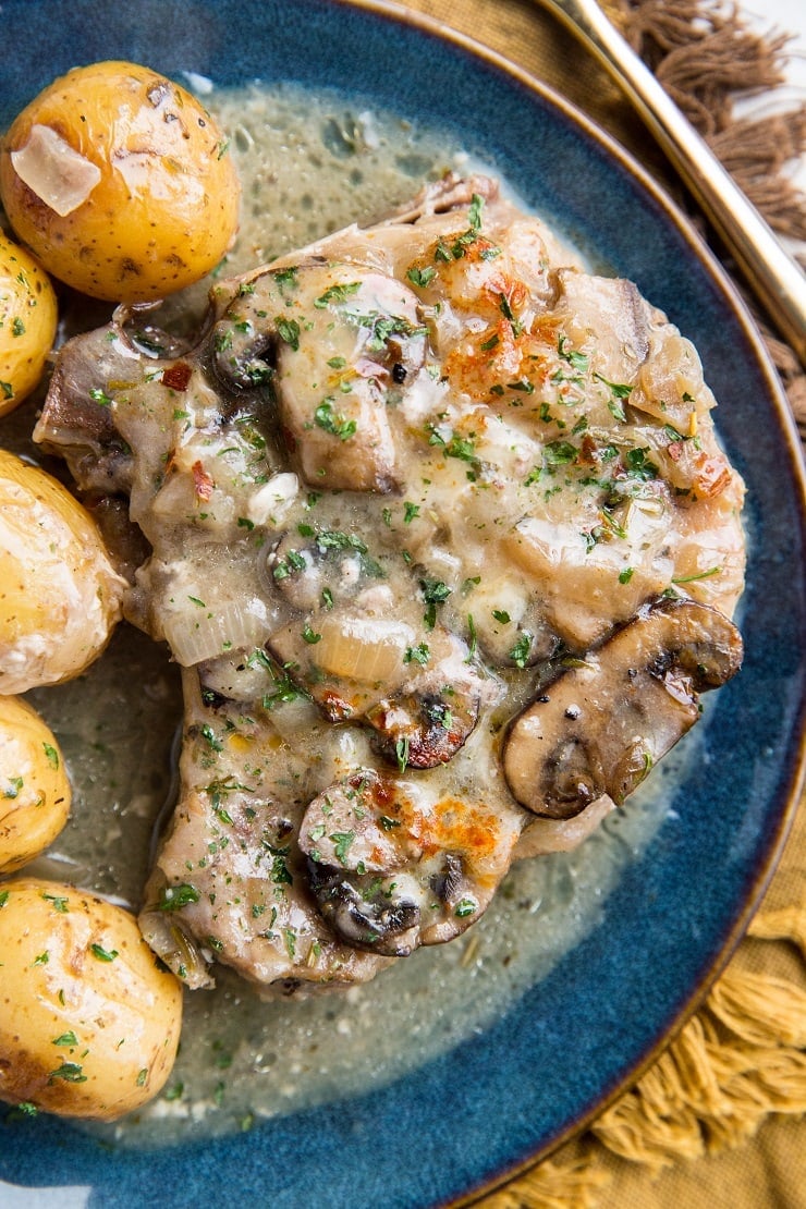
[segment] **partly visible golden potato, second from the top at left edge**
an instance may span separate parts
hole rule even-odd
[[[56,294],[42,268],[0,232],[0,416],[41,378],[56,319]]]

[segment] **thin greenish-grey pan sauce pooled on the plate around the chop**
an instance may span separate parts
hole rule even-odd
[[[225,276],[369,221],[423,179],[466,167],[443,137],[393,116],[355,114],[332,97],[250,88],[211,102],[244,184]],[[178,305],[192,310],[203,297],[198,289]],[[30,417],[28,410],[17,421],[21,450]],[[123,626],[81,678],[30,698],[56,731],[75,786],[68,828],[31,872],[137,908],[172,793],[181,716],[175,667],[164,648]],[[651,840],[683,760],[704,741],[707,725],[582,849],[516,866],[468,933],[418,950],[375,982],[262,1001],[219,967],[215,990],[186,994],[181,1054],[166,1092],[123,1122],[85,1128],[124,1146],[174,1144],[191,1130],[195,1140],[225,1134],[384,1086],[483,1031],[604,920],[621,869]]]

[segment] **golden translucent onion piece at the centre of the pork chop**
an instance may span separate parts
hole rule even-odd
[[[402,682],[406,648],[414,638],[411,626],[377,617],[342,615],[325,618],[319,630],[313,658],[330,676],[388,687]]]

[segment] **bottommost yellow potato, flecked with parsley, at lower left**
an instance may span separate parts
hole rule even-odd
[[[59,883],[0,883],[0,1100],[114,1121],[163,1087],[181,987],[129,912]]]

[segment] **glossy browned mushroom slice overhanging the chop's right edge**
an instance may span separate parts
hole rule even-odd
[[[514,723],[504,774],[538,815],[572,818],[602,794],[621,805],[700,716],[698,693],[742,663],[717,609],[662,601],[563,672]]]

